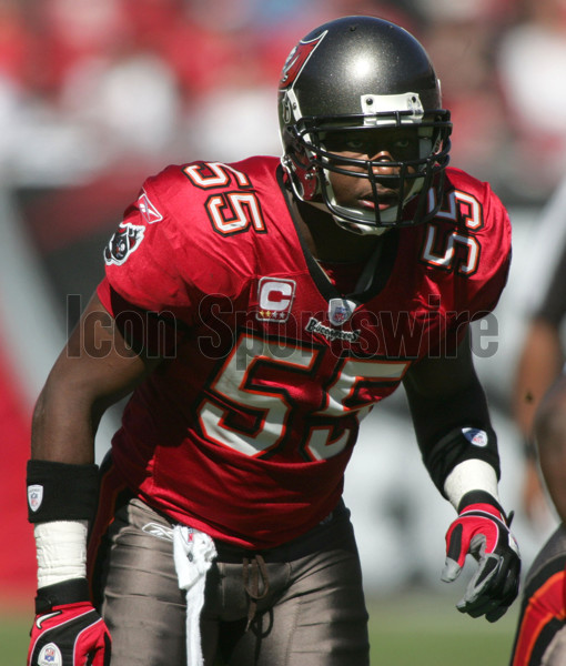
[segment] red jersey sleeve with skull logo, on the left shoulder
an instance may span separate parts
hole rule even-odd
[[[104,250],[105,279],[115,294],[192,326],[211,296],[234,301],[245,291],[249,263],[234,256],[247,256],[249,248],[244,240],[230,243],[214,233],[208,196],[182,167],[168,167],[144,182]]]

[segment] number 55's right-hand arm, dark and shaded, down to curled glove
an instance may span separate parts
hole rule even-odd
[[[457,608],[495,622],[517,595],[520,562],[498,501],[497,440],[469,333],[454,353],[416,363],[404,385],[426,468],[458,512],[446,535],[443,579],[454,581],[472,554],[479,566]]]

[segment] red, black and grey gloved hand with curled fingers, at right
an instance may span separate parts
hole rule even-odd
[[[513,517],[513,516],[511,516]],[[520,557],[501,506],[488,494],[473,492],[464,496],[459,515],[446,533],[446,564],[442,579],[455,581],[466,555],[473,555],[477,572],[464,597],[456,604],[472,617],[485,615],[495,622],[505,614],[518,593]]]

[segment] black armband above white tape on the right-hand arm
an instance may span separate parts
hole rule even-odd
[[[464,461],[484,461],[501,477],[497,435],[492,427],[457,427],[423,452],[423,461],[435,486],[446,497],[444,483],[456,465]]]

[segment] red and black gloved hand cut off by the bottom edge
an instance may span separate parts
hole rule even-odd
[[[109,666],[111,639],[107,625],[88,601],[87,582],[81,582],[85,594],[79,595],[77,585],[69,586],[72,583],[77,581],[38,591],[28,666]],[[62,603],[65,597],[77,596],[87,598]]]

